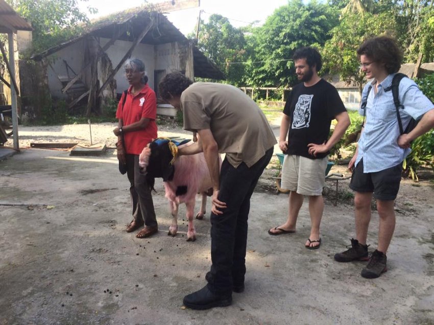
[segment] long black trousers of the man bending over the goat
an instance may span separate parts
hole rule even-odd
[[[223,161],[219,200],[227,207],[223,214],[211,212],[212,265],[206,277],[214,293],[231,293],[232,285],[244,284],[250,197],[272,155],[273,148],[250,168],[244,162],[234,168],[226,158]]]

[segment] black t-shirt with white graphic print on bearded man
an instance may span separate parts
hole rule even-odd
[[[342,112],[346,112],[344,103],[336,88],[326,80],[321,79],[310,87],[305,87],[303,83],[295,86],[283,109],[283,113],[291,119],[285,153],[310,159],[324,158],[328,152],[315,157],[309,154],[307,145],[326,142],[331,121]]]

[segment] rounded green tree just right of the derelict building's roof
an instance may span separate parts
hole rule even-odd
[[[191,36],[191,35],[190,35]],[[245,73],[246,40],[241,29],[228,18],[212,14],[199,30],[198,47],[227,77],[227,82],[240,86]]]

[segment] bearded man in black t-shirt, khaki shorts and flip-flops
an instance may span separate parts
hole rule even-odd
[[[289,212],[287,221],[268,233],[275,236],[295,232],[298,212],[306,195],[309,197],[311,229],[305,247],[312,250],[321,245],[322,189],[328,153],[342,138],[350,125],[350,118],[337,90],[318,76],[322,66],[318,50],[299,48],[293,59],[297,77],[302,83],[293,88],[286,101],[279,137],[279,148],[286,154],[281,187],[291,191]],[[337,124],[327,139],[333,119]]]

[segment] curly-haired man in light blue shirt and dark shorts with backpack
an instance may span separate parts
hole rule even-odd
[[[386,253],[395,230],[394,204],[402,161],[410,152],[411,141],[434,127],[434,105],[413,80],[403,78],[399,83],[399,102],[404,106],[400,111],[403,128],[411,118],[419,123],[412,131],[401,134],[392,91],[388,91],[401,66],[400,49],[389,37],[374,37],[358,48],[357,56],[366,78],[373,80],[363,90],[361,102],[367,102],[366,113],[364,109],[359,113],[366,114],[366,123],[348,165],[353,171],[350,188],[355,191],[356,238],[351,239],[349,250],[335,254],[334,259],[339,262],[369,259],[366,240],[374,197],[379,215],[378,248],[361,271],[362,277],[373,279],[387,270]]]

